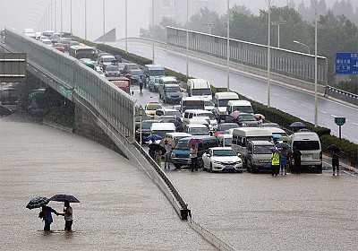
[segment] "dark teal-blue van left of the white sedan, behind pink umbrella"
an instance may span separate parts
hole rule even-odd
[[[210,147],[218,146],[217,138],[213,136],[193,136],[194,138],[200,138],[202,143],[195,143],[198,149],[198,163],[200,163],[202,154]],[[190,159],[190,143],[189,141],[193,137],[186,137],[180,139],[175,143],[175,147],[172,149],[172,155],[170,161],[174,164],[176,169],[180,169],[182,166],[189,166],[191,164]]]

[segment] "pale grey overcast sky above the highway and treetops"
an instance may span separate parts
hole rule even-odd
[[[140,28],[149,27],[149,13],[152,0],[127,0],[128,3],[128,36],[138,37]],[[156,0],[154,0],[156,1]],[[226,0],[213,0],[223,2],[223,10],[226,10]],[[326,0],[328,7],[332,6],[337,0]],[[23,31],[25,28],[33,28],[36,31],[42,31],[45,13],[49,3],[53,4],[53,20],[56,13],[56,31],[71,30],[71,0],[0,0],[0,29],[14,28]],[[63,3],[63,14],[61,18],[61,2]],[[189,0],[190,4],[191,0]],[[286,5],[287,0],[274,0],[273,4],[277,6]],[[295,0],[296,6],[303,2],[306,5],[311,4],[311,0]],[[354,8],[358,6],[357,0],[351,0]],[[84,38],[84,3],[85,0],[72,0],[72,33]],[[124,23],[124,3],[125,0],[105,0],[106,3],[106,31],[116,28],[117,39],[125,37]],[[231,6],[234,4],[244,4],[251,9],[253,13],[259,13],[260,9],[267,9],[265,0],[231,0]],[[56,10],[55,10],[56,9]],[[103,0],[87,0],[87,37],[88,39],[97,39],[103,34]],[[221,13],[220,13],[221,14]],[[48,20],[47,16],[45,17]],[[55,21],[53,21],[55,27]],[[54,30],[54,29],[53,29]]]

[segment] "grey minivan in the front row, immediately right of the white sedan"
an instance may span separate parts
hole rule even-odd
[[[246,168],[249,172],[272,172],[271,153],[275,145],[269,141],[249,141],[245,157]]]

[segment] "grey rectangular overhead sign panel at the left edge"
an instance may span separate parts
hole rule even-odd
[[[0,53],[0,82],[25,82],[26,67],[26,53]]]

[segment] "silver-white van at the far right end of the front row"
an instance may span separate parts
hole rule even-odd
[[[307,129],[301,129],[291,134],[291,150],[294,148],[301,151],[301,169],[306,171],[322,172],[322,148],[318,134]]]

